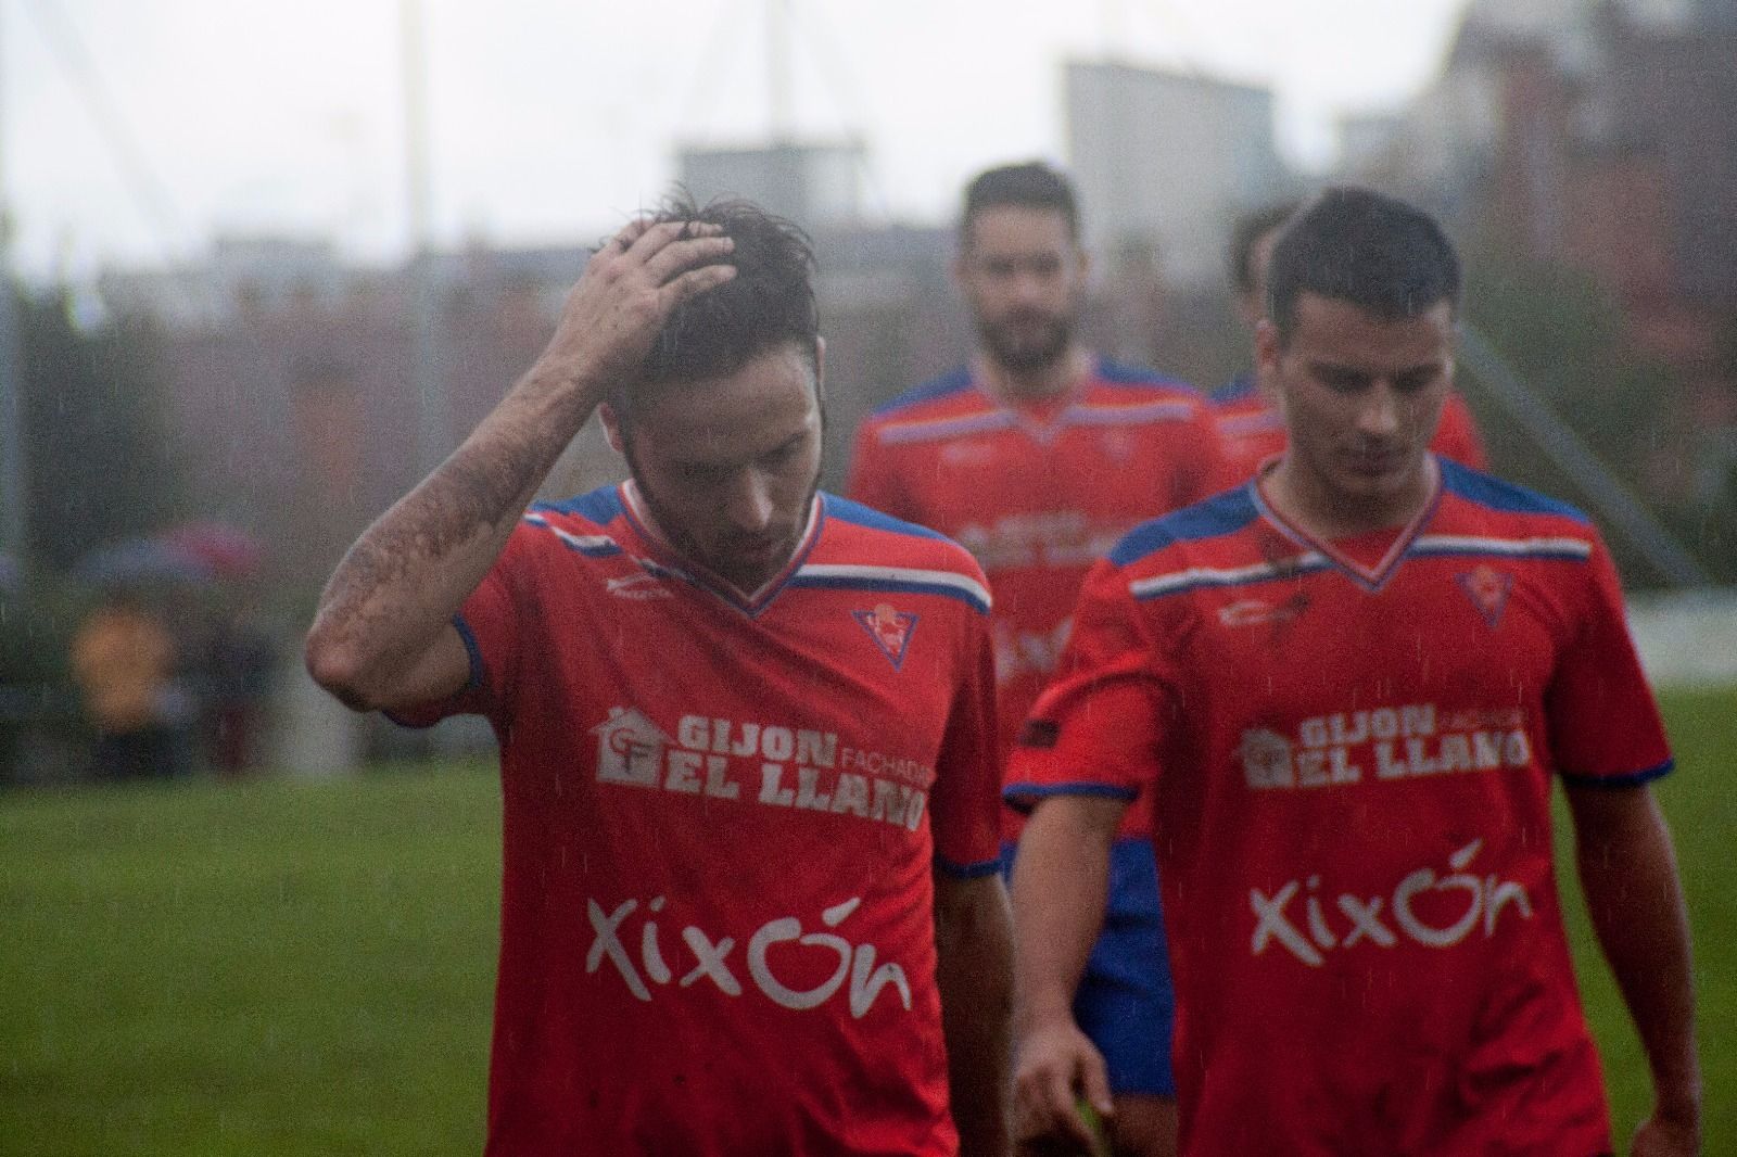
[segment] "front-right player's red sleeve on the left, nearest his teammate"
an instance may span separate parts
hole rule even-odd
[[[1080,591],[1056,678],[1013,750],[1009,804],[1030,811],[1046,796],[1131,801],[1150,790],[1167,695],[1145,636],[1126,572],[1100,561]]]

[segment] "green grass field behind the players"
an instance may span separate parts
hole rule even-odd
[[[1737,691],[1664,705],[1706,1152],[1737,1154]],[[0,796],[0,1154],[479,1152],[497,830],[478,764]],[[1645,1065],[1569,910],[1621,1143]]]

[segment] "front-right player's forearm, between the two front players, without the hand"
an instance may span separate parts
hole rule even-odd
[[[1014,1041],[1073,1016],[1103,926],[1119,801],[1061,796],[1032,813],[1013,865]]]

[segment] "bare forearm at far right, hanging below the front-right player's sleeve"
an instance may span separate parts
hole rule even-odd
[[[1575,789],[1586,907],[1652,1068],[1659,1114],[1699,1124],[1688,916],[1664,817],[1647,789]]]

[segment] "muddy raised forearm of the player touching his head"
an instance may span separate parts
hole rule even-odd
[[[538,363],[339,563],[307,636],[314,678],[356,707],[387,704],[493,566],[596,391]]]

